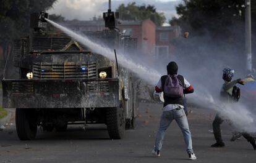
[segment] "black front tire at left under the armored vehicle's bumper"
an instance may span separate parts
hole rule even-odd
[[[36,137],[36,111],[35,109],[16,109],[16,130],[20,140],[33,140]]]

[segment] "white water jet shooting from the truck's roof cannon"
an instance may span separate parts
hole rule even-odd
[[[111,50],[105,46],[101,46],[100,44],[96,44],[87,36],[80,36],[79,34],[74,33],[73,31],[65,28],[64,26],[58,25],[58,23],[48,20],[47,18],[46,20],[51,23],[51,25],[55,26],[59,30],[69,35],[71,38],[74,38],[81,44],[90,48],[92,52],[95,52],[96,54],[101,54],[109,58],[110,60],[115,60],[114,50]],[[145,66],[135,63],[133,60],[127,57],[127,55],[118,54],[117,57],[120,65],[128,68],[130,71],[137,74],[145,82],[148,82],[148,84],[155,85],[156,82],[158,82],[158,79],[160,79],[161,77],[160,72],[156,71],[153,68],[147,68]],[[190,96],[190,101],[192,101],[192,103],[197,103],[197,105],[202,108],[214,109],[215,111],[218,111],[221,116],[229,119],[229,121],[231,121],[234,127],[236,127],[239,131],[256,132],[256,125],[254,121],[256,116],[252,114],[249,109],[247,109],[241,103],[223,105],[220,101],[213,99],[210,93],[203,93],[200,92],[200,90]]]

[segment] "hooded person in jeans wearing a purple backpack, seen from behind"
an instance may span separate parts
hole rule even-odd
[[[175,120],[183,133],[189,159],[194,160],[197,159],[197,157],[192,148],[191,133],[182,103],[183,93],[193,93],[194,89],[183,76],[177,75],[177,70],[177,63],[170,62],[167,65],[168,75],[161,76],[160,81],[155,87],[156,92],[164,93],[164,106],[160,127],[156,135],[155,148],[153,149],[152,154],[154,156],[160,156],[164,133],[171,122]]]

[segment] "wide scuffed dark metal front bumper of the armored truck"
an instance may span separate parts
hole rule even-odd
[[[3,79],[4,108],[119,106],[119,79]]]

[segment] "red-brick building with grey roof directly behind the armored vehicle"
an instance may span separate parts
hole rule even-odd
[[[71,20],[61,24],[77,33],[106,30],[103,20]],[[150,19],[137,21],[119,20],[117,28],[125,36],[137,38],[137,53],[151,56],[155,54],[156,26]]]

